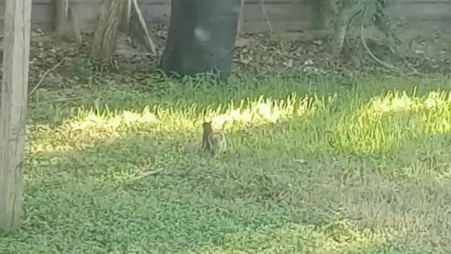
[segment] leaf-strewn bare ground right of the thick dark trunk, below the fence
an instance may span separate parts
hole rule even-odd
[[[451,72],[451,34],[442,31],[426,33],[414,28],[402,28],[394,34],[397,35],[396,42],[388,40],[376,28],[364,29],[368,51],[362,45],[359,29],[350,30],[340,58],[329,54],[330,31],[247,35],[240,39],[244,42],[237,40],[236,61],[242,67],[256,71],[293,68],[349,77],[386,71],[401,71],[405,75]],[[397,70],[378,63],[370,52]]]

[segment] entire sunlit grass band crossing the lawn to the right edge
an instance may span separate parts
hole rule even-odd
[[[30,155],[39,152],[68,152],[93,147],[104,140],[132,135],[149,135],[190,143],[201,136],[202,121],[213,121],[216,130],[234,133],[266,124],[295,122],[312,130],[297,137],[307,147],[329,152],[367,154],[390,152],[404,143],[425,135],[451,132],[451,99],[446,92],[428,92],[423,97],[407,92],[387,92],[365,101],[352,95],[338,105],[335,98],[316,96],[285,99],[260,96],[231,101],[226,106],[198,109],[157,108],[109,111],[83,109],[61,126],[31,126]],[[333,114],[333,107],[339,107]],[[305,121],[299,121],[303,117]],[[321,120],[320,120],[321,119]],[[288,123],[292,124],[292,123]],[[307,128],[307,126],[309,126]],[[30,127],[30,126],[29,126]],[[313,136],[312,136],[313,135]],[[302,150],[302,147],[299,147]]]

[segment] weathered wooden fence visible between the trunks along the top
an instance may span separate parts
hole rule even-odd
[[[55,0],[33,0],[32,28],[53,30]],[[57,1],[57,0],[56,0]],[[224,0],[226,1],[226,0]],[[322,0],[264,0],[266,13],[273,30],[284,32],[290,30],[307,30],[319,28],[319,3]],[[394,0],[393,0],[394,1]],[[70,0],[82,31],[94,30],[97,23],[101,0]],[[142,12],[147,25],[168,23],[171,15],[170,0],[144,0]],[[4,0],[0,0],[0,13],[4,13]],[[404,17],[407,22],[417,28],[449,28],[451,29],[451,0],[398,0],[390,6],[390,16]],[[245,0],[244,32],[267,30],[260,0]],[[0,31],[3,32],[3,20],[0,20]]]

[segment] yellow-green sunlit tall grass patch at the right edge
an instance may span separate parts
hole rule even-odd
[[[421,97],[388,92],[369,103],[354,102],[333,131],[333,145],[352,154],[387,153],[409,141],[451,131],[448,92],[428,92]]]

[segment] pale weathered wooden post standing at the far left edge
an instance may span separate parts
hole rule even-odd
[[[0,234],[22,224],[32,0],[6,0],[0,97]]]

